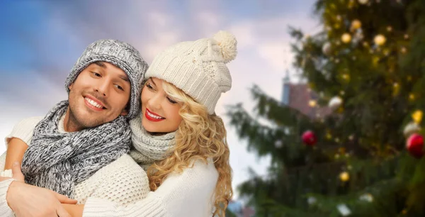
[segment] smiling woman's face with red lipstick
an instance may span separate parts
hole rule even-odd
[[[142,89],[142,126],[150,133],[170,133],[182,121],[179,104],[162,89],[162,79],[151,77]]]

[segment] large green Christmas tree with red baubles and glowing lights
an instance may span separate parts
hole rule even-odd
[[[253,112],[228,108],[272,160],[239,193],[256,216],[425,216],[425,1],[319,0],[314,13],[320,33],[290,28],[313,114],[257,86]]]

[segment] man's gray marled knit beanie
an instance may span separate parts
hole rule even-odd
[[[131,84],[130,108],[126,118],[134,118],[140,112],[140,84],[145,77],[147,63],[140,53],[130,44],[119,40],[96,40],[84,50],[83,54],[69,73],[65,88],[69,94],[69,85],[77,79],[79,73],[94,62],[109,62],[127,74]]]

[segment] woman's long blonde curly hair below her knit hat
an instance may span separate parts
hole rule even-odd
[[[193,167],[196,160],[207,164],[207,159],[211,158],[218,172],[214,215],[224,217],[233,190],[227,132],[222,118],[208,114],[205,106],[174,85],[164,81],[162,87],[166,94],[181,104],[179,114],[183,121],[176,131],[176,145],[170,150],[169,157],[155,162],[147,169],[149,187],[155,191],[171,172],[183,172],[184,168]]]

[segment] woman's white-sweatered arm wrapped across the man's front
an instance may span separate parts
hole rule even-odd
[[[170,174],[164,183],[145,199],[128,206],[118,206],[105,199],[89,198],[82,216],[212,216],[212,195],[218,173],[212,162],[197,162],[181,174]],[[81,216],[81,206],[67,206],[74,216]]]

